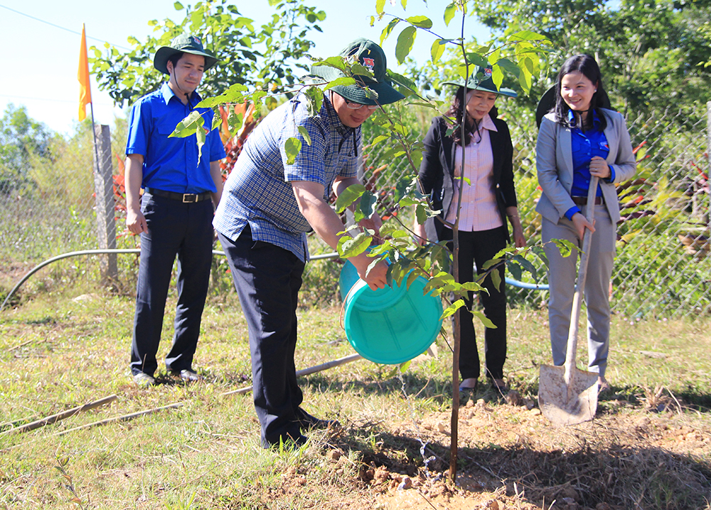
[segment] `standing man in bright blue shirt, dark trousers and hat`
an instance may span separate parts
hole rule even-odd
[[[198,380],[193,355],[208,293],[213,246],[213,205],[223,181],[225,157],[213,112],[198,108],[207,139],[198,154],[196,135],[169,138],[178,122],[195,110],[203,73],[217,62],[200,39],[178,36],[156,51],[154,67],[168,83],[141,97],[131,110],[126,145],[126,225],[141,235],[141,260],[131,346],[131,371],[139,386],[155,383],[156,354],[178,256],[178,304],[173,345],[166,368],[185,381]],[[144,189],[143,196],[140,188]]]

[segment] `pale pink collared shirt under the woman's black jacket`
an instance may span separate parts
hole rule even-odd
[[[454,155],[454,197],[447,211],[447,221],[454,223],[456,205],[459,202],[459,184],[464,183],[461,196],[461,214],[459,230],[477,232],[491,230],[503,226],[501,213],[496,204],[495,186],[493,181],[493,152],[489,131],[496,131],[496,125],[491,117],[486,115],[479,126],[479,134],[472,134],[469,145],[466,146],[464,162],[464,177],[469,183],[459,179],[461,176],[461,147],[456,147]],[[481,141],[479,137],[481,135]],[[479,143],[477,143],[479,141]]]

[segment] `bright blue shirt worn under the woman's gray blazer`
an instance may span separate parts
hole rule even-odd
[[[607,144],[605,132],[600,129],[600,119],[597,117],[595,110],[590,111],[592,115],[592,129],[583,132],[579,127],[574,127],[570,130],[570,148],[572,149],[573,159],[573,184],[570,190],[571,196],[587,197],[587,191],[590,187],[590,161],[594,156],[600,156],[606,159],[610,153],[610,147]],[[573,112],[568,110],[568,121],[573,122]],[[610,167],[608,182],[615,179],[615,170],[612,165]],[[602,196],[602,188],[599,184],[595,196]],[[579,213],[580,208],[577,206],[571,207],[565,212],[565,217],[572,219],[575,213]]]

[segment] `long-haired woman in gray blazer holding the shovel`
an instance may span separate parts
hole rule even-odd
[[[577,252],[562,257],[552,239],[582,247],[584,230],[594,232],[589,254],[585,305],[588,319],[588,368],[597,372],[600,391],[609,351],[609,282],[615,255],[619,202],[615,184],[634,176],[636,161],[622,115],[607,110],[599,66],[590,55],[575,55],[563,64],[555,85],[555,106],[545,115],[536,144],[536,170],[542,196],[542,240],[550,262],[548,322],[553,363],[565,363],[575,287]],[[591,176],[599,178],[594,223],[583,216]]]

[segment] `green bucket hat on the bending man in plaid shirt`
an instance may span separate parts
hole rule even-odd
[[[336,94],[345,97],[349,101],[359,102],[361,105],[389,105],[391,102],[405,99],[405,96],[392,88],[390,78],[387,78],[387,60],[383,48],[380,48],[373,41],[368,39],[356,39],[351,44],[343,48],[341,57],[355,56],[360,65],[373,73],[370,76],[355,75],[357,85],[336,85],[331,90]],[[312,65],[311,75],[324,80],[332,81],[336,78],[346,76],[340,69],[332,68],[330,65]],[[365,95],[363,87],[367,87],[377,94],[376,97]]]

